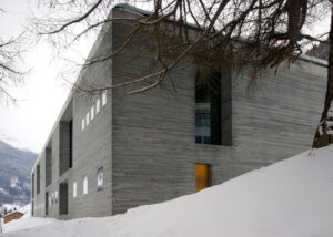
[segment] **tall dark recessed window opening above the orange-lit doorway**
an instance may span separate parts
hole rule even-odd
[[[195,143],[231,145],[231,79],[202,70],[195,78]]]

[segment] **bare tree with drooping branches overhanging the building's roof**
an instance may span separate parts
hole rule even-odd
[[[139,1],[128,1],[138,3]],[[132,31],[123,43],[102,58],[87,61],[84,66],[105,61],[125,49],[140,32],[152,35],[150,52],[154,61],[143,74],[127,82],[103,89],[81,90],[94,92],[149,81],[134,91],[140,93],[161,84],[185,60],[218,70],[228,64],[234,71],[245,68],[252,79],[268,68],[282,62],[294,62],[314,42],[325,43],[330,33],[306,33],[310,24],[332,12],[331,0],[154,0],[140,1],[150,8],[138,18],[110,18],[114,0],[40,0],[51,9],[47,18],[36,18],[33,27],[58,45],[70,47],[87,33],[110,21],[130,22]],[[57,12],[52,14],[52,12]],[[332,22],[331,22],[332,28]],[[309,31],[311,32],[311,31]],[[331,30],[332,33],[332,30]],[[332,42],[330,33],[329,42]],[[319,137],[325,131],[327,110],[333,95],[333,55],[330,47],[327,91],[324,110],[313,146],[326,143]],[[75,86],[75,85],[74,85]],[[320,128],[321,127],[321,128]]]

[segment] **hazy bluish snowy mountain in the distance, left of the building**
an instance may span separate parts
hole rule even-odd
[[[29,203],[30,171],[37,156],[0,141],[0,203]]]

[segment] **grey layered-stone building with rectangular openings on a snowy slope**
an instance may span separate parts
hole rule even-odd
[[[112,17],[144,12],[129,6]],[[117,49],[130,25],[105,25],[90,53]],[[131,49],[140,50],[139,41]],[[105,87],[140,72],[149,56],[124,49],[83,69],[79,85]],[[108,216],[192,194],[311,147],[326,82],[324,61],[302,58],[266,71],[254,94],[246,75],[219,72],[218,92],[198,87],[189,64],[169,82],[127,95],[129,85],[71,93],[31,172],[33,216]],[[213,75],[212,75],[213,76]]]

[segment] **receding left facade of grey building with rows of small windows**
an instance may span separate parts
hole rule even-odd
[[[111,51],[111,29],[105,27],[90,59],[95,55],[107,54]],[[83,69],[78,79],[81,87],[104,87],[111,84],[111,60],[94,63]],[[100,102],[100,111],[97,113],[97,102]],[[33,202],[33,215],[71,219],[85,216],[109,216],[111,212],[111,101],[112,93],[107,93],[107,104],[102,105],[102,94],[88,94],[80,90],[70,94],[65,102],[52,132],[39,156],[32,173],[36,177],[36,166],[41,167],[41,192],[36,194]],[[91,110],[93,106],[93,118]],[[88,115],[87,115],[88,114]],[[89,116],[89,125],[85,124]],[[82,118],[84,130],[82,131]],[[72,167],[69,167],[69,122],[72,120]],[[46,150],[51,148],[51,184],[46,187]],[[62,164],[62,166],[59,166]],[[103,167],[103,189],[98,190],[98,169]],[[88,178],[88,193],[83,194],[83,178]],[[36,178],[34,178],[36,179]],[[73,196],[73,185],[77,184],[77,196]],[[36,182],[34,182],[36,184]],[[61,192],[61,188],[63,192]],[[64,190],[64,188],[68,188]],[[49,215],[46,215],[46,193],[49,193]],[[68,193],[68,199],[60,197]],[[57,198],[56,198],[57,194]],[[65,213],[68,214],[60,214]]]

